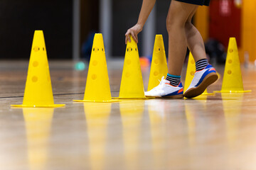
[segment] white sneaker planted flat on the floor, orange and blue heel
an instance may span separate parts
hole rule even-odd
[[[183,86],[178,84],[178,86],[172,86],[170,81],[162,77],[160,84],[151,91],[146,91],[145,96],[156,97],[156,98],[183,98]]]

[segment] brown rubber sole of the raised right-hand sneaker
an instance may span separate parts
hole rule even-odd
[[[213,84],[218,79],[218,75],[216,73],[210,73],[208,74],[202,81],[201,84],[199,84],[197,87],[193,87],[189,90],[187,90],[184,93],[184,96],[186,98],[194,98],[196,96],[199,96],[203,94],[203,91],[206,90],[210,84]]]

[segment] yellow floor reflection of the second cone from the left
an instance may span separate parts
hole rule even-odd
[[[92,170],[104,169],[106,164],[107,125],[111,106],[112,103],[84,103]]]

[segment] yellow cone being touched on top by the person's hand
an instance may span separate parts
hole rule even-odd
[[[124,68],[119,91],[119,98],[146,99],[142,79],[142,70],[139,63],[137,43],[130,36],[131,42],[127,42],[124,57]]]

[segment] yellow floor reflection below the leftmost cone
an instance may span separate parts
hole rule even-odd
[[[54,108],[23,108],[31,170],[46,169]]]

